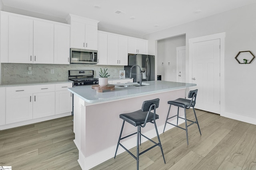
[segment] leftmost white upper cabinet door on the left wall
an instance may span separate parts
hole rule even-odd
[[[9,16],[9,63],[33,63],[33,20]]]

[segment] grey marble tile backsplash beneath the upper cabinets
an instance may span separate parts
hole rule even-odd
[[[32,74],[28,74],[32,67]],[[108,68],[110,78],[118,78],[119,70],[124,66],[105,66],[93,64],[16,64],[1,63],[1,84],[15,82],[37,82],[67,80],[68,70],[94,70],[94,77],[99,77],[100,68]],[[54,74],[51,74],[51,69]]]

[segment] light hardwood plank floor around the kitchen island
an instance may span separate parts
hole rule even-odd
[[[155,147],[140,156],[140,170],[256,170],[256,125],[201,110],[196,114],[202,136],[197,125],[188,127],[187,146],[184,130],[174,127],[164,132],[160,140],[166,164],[159,147]],[[0,166],[80,170],[72,119],[68,116],[0,131]],[[140,151],[151,145],[143,143]],[[136,154],[136,148],[131,151]],[[91,170],[135,169],[136,160],[124,152]]]

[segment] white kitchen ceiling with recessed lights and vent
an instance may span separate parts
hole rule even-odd
[[[4,6],[66,18],[100,21],[99,30],[143,36],[256,3],[256,0],[2,0]],[[120,14],[115,12],[119,11]]]

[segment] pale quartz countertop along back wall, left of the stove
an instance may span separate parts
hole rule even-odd
[[[0,87],[10,87],[10,86],[29,86],[29,85],[39,85],[39,84],[58,84],[58,83],[68,83],[72,82],[70,80],[52,80],[52,81],[37,81],[37,82],[16,82],[16,83],[3,83]]]

